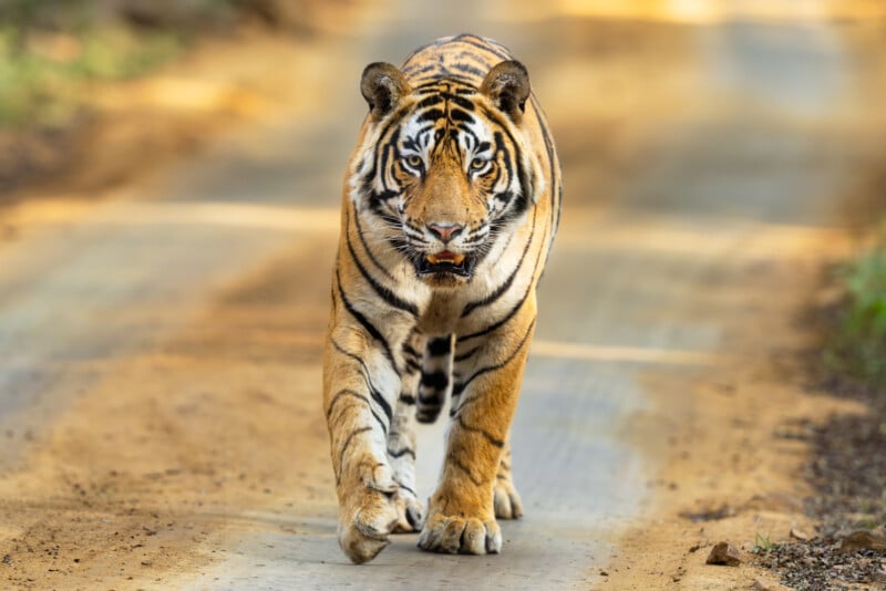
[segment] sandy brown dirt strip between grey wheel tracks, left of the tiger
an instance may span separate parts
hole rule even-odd
[[[223,559],[222,536],[285,531],[293,506],[334,516],[327,310],[310,303],[327,267],[309,262],[330,247],[227,286],[153,353],[105,367],[47,434],[6,435],[32,440],[0,479],[0,587],[163,588]]]

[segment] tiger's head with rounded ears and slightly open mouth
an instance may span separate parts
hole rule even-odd
[[[543,188],[522,129],[526,69],[506,61],[478,86],[441,77],[412,87],[394,65],[373,63],[361,92],[370,114],[351,183],[358,210],[429,284],[468,281]]]

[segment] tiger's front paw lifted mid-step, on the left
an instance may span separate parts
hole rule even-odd
[[[339,546],[357,564],[369,562],[390,543],[388,536],[398,522],[398,488],[390,468],[379,465],[365,471],[362,486],[347,496],[338,529]]]

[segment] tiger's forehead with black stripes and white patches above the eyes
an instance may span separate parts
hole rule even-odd
[[[473,148],[492,141],[492,131],[481,115],[480,91],[454,80],[435,80],[413,90],[415,106],[404,118],[401,144],[404,148],[425,152],[454,142]]]

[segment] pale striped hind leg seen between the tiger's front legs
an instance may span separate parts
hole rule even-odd
[[[388,433],[388,457],[398,485],[394,494],[398,520],[393,533],[420,530],[424,516],[424,508],[415,492],[415,403],[422,367],[419,351],[424,350],[424,335],[415,330],[403,345],[406,366]]]

